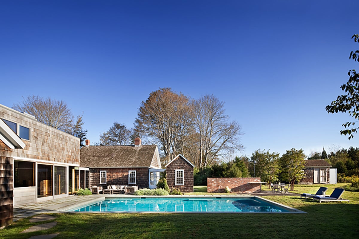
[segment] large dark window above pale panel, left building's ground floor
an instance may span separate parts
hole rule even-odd
[[[35,186],[35,163],[14,160],[14,187]]]

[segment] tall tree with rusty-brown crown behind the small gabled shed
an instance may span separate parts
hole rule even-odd
[[[161,88],[142,101],[135,121],[135,130],[158,140],[164,152],[164,163],[183,151],[190,119],[189,99],[171,88]],[[182,142],[182,143],[181,143]]]

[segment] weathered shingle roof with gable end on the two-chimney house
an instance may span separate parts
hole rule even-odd
[[[88,168],[161,167],[157,145],[82,147],[80,166]]]

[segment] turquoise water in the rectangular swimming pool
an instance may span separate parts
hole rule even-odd
[[[76,212],[293,212],[257,197],[243,198],[116,198]]]

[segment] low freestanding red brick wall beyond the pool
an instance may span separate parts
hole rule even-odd
[[[259,192],[261,178],[207,178],[207,192],[224,192],[229,187],[232,192]]]

